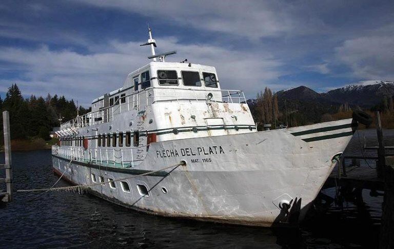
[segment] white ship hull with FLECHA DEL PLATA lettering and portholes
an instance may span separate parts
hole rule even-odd
[[[115,168],[83,162],[56,152],[57,174],[74,184],[92,184],[92,174],[115,180],[89,186],[96,196],[134,210],[243,225],[271,226],[288,221],[281,202],[294,209],[297,198],[302,219],[319,193],[335,162],[345,150],[357,123],[351,119],[290,129],[225,136],[153,142],[144,160],[134,168]],[[160,170],[186,161],[174,169],[124,180],[117,179]],[[67,170],[65,170],[67,168]],[[146,186],[142,196],[137,184]],[[166,193],[165,193],[166,192]],[[301,201],[300,201],[301,199]],[[293,200],[293,201],[291,201]]]

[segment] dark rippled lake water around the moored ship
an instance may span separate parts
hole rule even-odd
[[[58,179],[50,151],[14,152],[12,161],[16,190],[49,188]],[[383,197],[364,190],[363,198],[363,205],[349,200],[311,211],[300,229],[269,229],[146,215],[86,194],[15,193],[0,208],[0,248],[375,248]]]

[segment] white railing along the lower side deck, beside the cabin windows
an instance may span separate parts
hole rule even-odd
[[[84,148],[52,146],[52,155],[81,162],[93,162],[109,167],[129,168],[134,167],[133,149],[92,148],[85,150]]]

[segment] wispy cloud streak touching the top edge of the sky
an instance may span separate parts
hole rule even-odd
[[[193,27],[250,39],[297,32],[319,32],[322,22],[302,15],[303,6],[285,1],[96,1],[74,0],[100,8],[117,9],[144,16],[171,20],[172,24]],[[307,12],[308,13],[308,12]],[[313,12],[309,12],[313,13]]]

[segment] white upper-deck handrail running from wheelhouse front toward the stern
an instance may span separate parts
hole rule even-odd
[[[164,90],[172,90],[174,96],[167,95],[168,92],[164,92],[163,95],[160,95],[159,92],[155,91],[156,89],[164,89]],[[208,100],[206,95],[201,95],[201,93],[206,92],[206,93],[213,93],[212,99],[210,101],[213,102],[226,102],[225,100],[227,99],[227,102],[234,103],[234,99],[238,101],[238,103],[245,102],[246,103],[246,98],[245,94],[241,90],[222,90],[222,89],[180,89],[180,88],[172,88],[172,87],[152,87],[146,91],[146,105],[148,105],[148,99],[152,98],[152,101],[149,103],[149,105],[152,105],[155,102],[161,102],[161,101],[177,101],[179,102],[180,100]],[[183,91],[192,91],[192,95],[188,95],[185,97],[181,97]],[[148,94],[148,92],[151,92]],[[124,110],[130,111],[130,103],[137,103],[136,108],[140,108],[140,93],[132,93],[129,95],[125,95],[119,98],[113,103],[113,105],[109,107],[102,108],[100,110],[96,110],[93,112],[86,113],[81,116],[77,116],[74,119],[71,119],[67,122],[64,122],[61,124],[61,130],[68,129],[68,128],[82,128],[82,127],[87,127],[91,126],[94,124],[99,124],[99,123],[104,123],[104,122],[109,122],[113,120],[114,115],[117,114],[117,112],[122,113]],[[200,94],[198,96],[198,94]],[[216,94],[215,94],[216,93]],[[220,95],[218,94],[220,93]],[[238,95],[238,96],[237,96]],[[135,96],[135,98],[133,97]],[[130,97],[132,97],[130,99]],[[200,98],[199,98],[200,97]],[[220,98],[217,99],[217,98]],[[126,102],[122,103],[122,99],[125,99]],[[122,105],[127,105],[127,108],[122,108]],[[116,107],[118,106],[118,107]],[[135,106],[133,105],[132,108]]]

